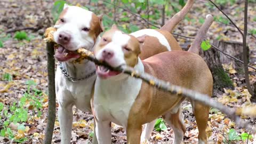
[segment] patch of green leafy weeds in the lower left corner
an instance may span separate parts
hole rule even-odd
[[[34,114],[37,113],[37,116],[40,117],[42,114],[43,103],[41,99],[42,91],[34,87],[36,83],[30,80],[25,84],[27,84],[27,91],[23,94],[23,97],[20,98],[18,103],[13,102],[10,105],[5,106],[4,103],[0,102],[0,111],[3,111],[3,115],[0,116],[0,120],[5,119],[4,121],[0,121],[0,135],[2,137],[7,136],[9,139],[20,143],[28,140],[28,138],[15,137],[15,134],[9,127],[10,123],[19,123],[18,131],[25,131],[25,126],[22,123],[26,123],[28,121],[29,110],[32,110]],[[27,107],[27,103],[29,103],[29,107]]]

